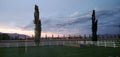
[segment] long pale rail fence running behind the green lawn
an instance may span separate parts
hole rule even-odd
[[[120,42],[117,41],[78,41],[78,40],[47,40],[41,41],[40,46],[46,45],[70,45],[70,46],[81,46],[81,45],[95,45],[95,46],[104,46],[104,47],[120,47]],[[0,42],[0,47],[24,47],[24,46],[35,46],[34,41],[4,41]]]

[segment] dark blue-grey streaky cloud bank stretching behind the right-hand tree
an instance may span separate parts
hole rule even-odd
[[[80,14],[74,12],[63,18],[41,18],[42,31],[54,32],[61,34],[91,34],[91,14],[92,11]],[[96,11],[98,19],[98,34],[120,34],[120,8],[112,10]],[[30,23],[25,28],[33,28],[33,23]]]

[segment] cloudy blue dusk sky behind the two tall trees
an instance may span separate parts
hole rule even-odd
[[[42,36],[91,34],[92,10],[96,10],[98,34],[120,34],[120,0],[0,0],[0,32],[34,34],[35,4]]]

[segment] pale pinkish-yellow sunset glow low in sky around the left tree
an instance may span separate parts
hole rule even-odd
[[[33,30],[24,30],[24,29],[17,28],[17,27],[14,27],[14,28],[3,27],[3,28],[0,28],[0,32],[3,32],[3,33],[18,33],[18,34],[25,34],[25,35],[28,35],[28,36],[34,36],[34,31]],[[42,32],[41,37],[45,37],[45,35],[47,35],[47,37],[51,37],[52,35],[54,35],[54,37],[58,37],[58,35],[62,36],[62,34],[57,34],[57,33],[52,33],[52,32],[46,32],[46,33]]]

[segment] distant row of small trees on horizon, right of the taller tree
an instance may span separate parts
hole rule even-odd
[[[97,35],[96,36],[99,39],[120,39],[120,34],[104,34],[104,35]],[[91,39],[92,40],[92,35],[84,35],[84,36],[81,36],[81,35],[69,35],[69,36],[60,36],[58,35],[58,37],[54,37],[54,35],[52,35],[51,37],[50,36],[45,36],[45,37],[42,37],[43,39]]]

